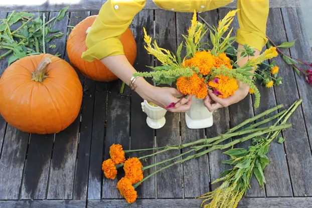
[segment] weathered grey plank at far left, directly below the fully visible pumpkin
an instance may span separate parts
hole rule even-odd
[[[0,199],[19,199],[29,134],[8,125],[0,159]]]

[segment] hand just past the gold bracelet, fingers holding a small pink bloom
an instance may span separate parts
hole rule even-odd
[[[175,88],[155,87],[150,85],[142,78],[137,79],[137,82],[137,88],[135,91],[144,100],[153,102],[154,104],[162,108],[166,108],[171,103],[177,103],[174,108],[167,109],[170,112],[186,112],[190,110],[192,104],[192,96],[188,96],[187,98],[182,99],[176,98],[175,95],[183,96],[183,94]]]

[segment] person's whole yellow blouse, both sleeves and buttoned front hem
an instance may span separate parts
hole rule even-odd
[[[88,50],[82,59],[93,61],[107,56],[122,55],[120,35],[131,24],[134,16],[143,9],[146,0],[108,0],[101,8],[86,38]],[[223,7],[232,0],[153,0],[155,5],[174,12],[205,12]],[[236,42],[248,44],[259,51],[267,42],[266,22],[269,12],[268,0],[238,0]],[[143,27],[143,26],[142,26]]]

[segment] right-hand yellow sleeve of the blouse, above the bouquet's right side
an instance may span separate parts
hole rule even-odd
[[[236,42],[249,45],[262,51],[266,39],[266,22],[269,13],[268,0],[238,0],[237,1],[239,29],[236,32]]]

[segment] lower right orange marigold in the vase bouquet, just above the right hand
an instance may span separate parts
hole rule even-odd
[[[227,98],[231,95],[234,95],[235,91],[238,90],[238,84],[236,79],[229,78],[228,76],[218,75],[216,78],[219,78],[218,82],[213,80],[208,82],[208,85],[216,90],[218,90],[222,95],[218,95],[220,98]]]

